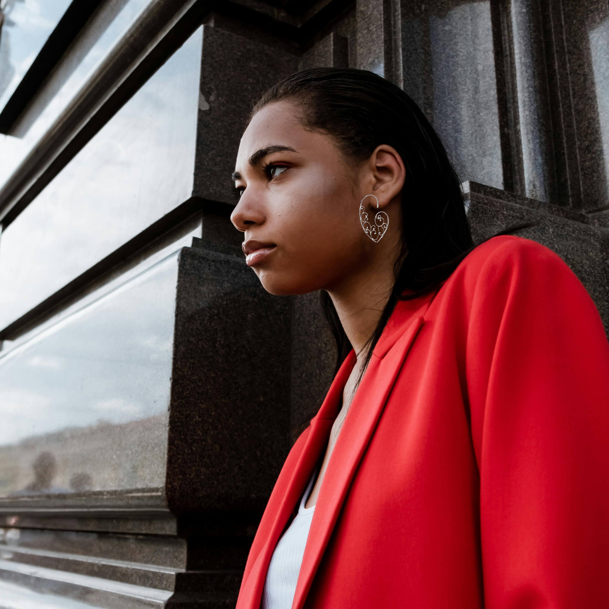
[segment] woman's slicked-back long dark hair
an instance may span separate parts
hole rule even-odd
[[[365,347],[359,382],[398,300],[438,289],[476,247],[461,183],[442,140],[417,104],[398,86],[373,72],[354,68],[296,72],[256,102],[250,120],[262,107],[280,100],[297,102],[303,125],[327,133],[347,158],[365,161],[377,146],[388,144],[397,150],[406,167],[401,198],[403,238],[394,269],[395,283]],[[493,237],[533,224],[514,225]],[[336,340],[336,372],[351,344],[325,290],[321,291],[321,301]]]

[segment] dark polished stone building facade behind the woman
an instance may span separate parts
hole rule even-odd
[[[230,223],[292,72],[403,88],[476,241],[539,220],[609,329],[607,0],[0,7],[0,609],[234,606],[333,371],[317,295],[267,294]]]

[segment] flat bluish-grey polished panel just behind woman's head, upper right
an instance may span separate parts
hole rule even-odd
[[[404,90],[462,180],[503,188],[490,2],[403,3]]]

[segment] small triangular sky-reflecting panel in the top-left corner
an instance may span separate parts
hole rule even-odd
[[[4,24],[0,32],[0,110],[72,0],[2,0]]]

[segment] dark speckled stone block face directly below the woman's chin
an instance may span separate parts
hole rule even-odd
[[[289,299],[226,247],[180,253],[166,487],[177,514],[259,513],[289,448]]]

